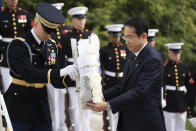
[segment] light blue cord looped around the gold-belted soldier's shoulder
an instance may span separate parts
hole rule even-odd
[[[27,47],[27,50],[28,50],[28,53],[29,53],[29,57],[30,57],[30,61],[31,61],[31,63],[32,63],[32,51],[31,51],[31,48],[30,48],[29,44],[25,41],[24,38],[21,38],[21,37],[17,37],[15,40],[20,40],[20,41]],[[20,75],[17,74],[17,73],[11,68],[11,65],[10,65],[10,62],[9,62],[9,57],[8,57],[8,55],[9,55],[9,48],[10,48],[11,44],[12,44],[12,42],[10,42],[10,43],[8,44],[8,47],[7,47],[7,54],[6,54],[6,55],[7,55],[7,64],[8,64],[8,67],[10,68],[11,72],[14,73],[14,75],[16,75],[17,77],[20,77]]]

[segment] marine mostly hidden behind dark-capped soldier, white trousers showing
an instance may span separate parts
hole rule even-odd
[[[61,11],[62,7],[64,6],[64,3],[55,3],[52,5],[56,7],[59,11]],[[58,64],[60,68],[66,66],[65,52],[62,50],[61,38],[64,37],[69,30],[70,27],[61,24],[56,28],[55,33],[51,35],[51,37],[56,41],[58,46]],[[57,89],[54,88],[52,84],[48,84],[47,87],[48,100],[53,122],[53,130],[68,131],[67,125],[65,123],[65,94],[67,92],[67,89]]]

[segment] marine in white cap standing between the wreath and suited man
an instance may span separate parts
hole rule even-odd
[[[105,26],[108,30],[109,43],[100,49],[100,61],[104,73],[104,90],[120,84],[123,77],[123,69],[129,52],[127,47],[120,43],[123,26],[122,24]],[[108,130],[116,131],[118,113],[113,114],[112,111],[107,111],[107,116],[106,118],[109,119]]]

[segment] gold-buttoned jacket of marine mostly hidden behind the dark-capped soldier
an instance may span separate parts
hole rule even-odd
[[[58,45],[58,57],[59,57],[59,67],[63,68],[67,65],[66,59],[65,59],[65,51],[63,50],[63,44],[65,42],[62,42],[62,38],[65,37],[65,35],[71,30],[70,27],[62,24],[56,29],[56,33],[52,34],[52,39],[56,41]]]

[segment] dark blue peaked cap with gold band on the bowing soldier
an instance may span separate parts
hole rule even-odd
[[[57,10],[54,6],[48,3],[40,2],[36,5],[36,17],[40,21],[43,30],[51,34],[58,27],[63,24],[65,17],[61,11]]]

